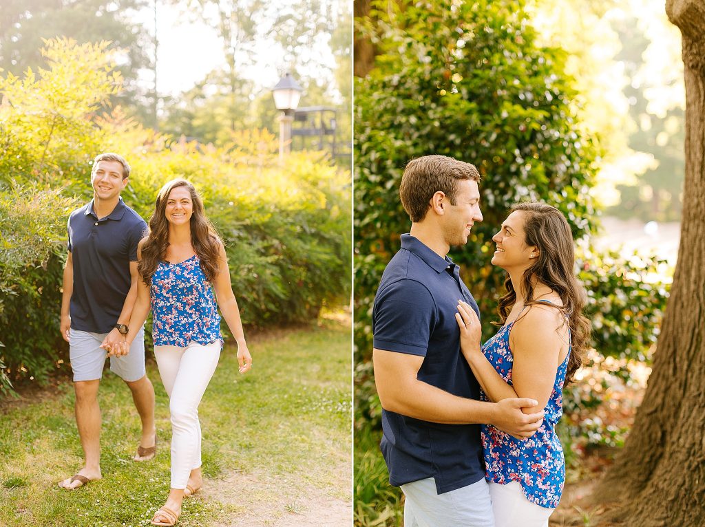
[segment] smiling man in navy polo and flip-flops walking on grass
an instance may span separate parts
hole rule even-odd
[[[125,341],[137,297],[137,244],[147,231],[139,214],[123,203],[130,166],[117,154],[100,154],[93,162],[93,199],[68,218],[68,259],[63,271],[61,336],[69,343],[75,415],[85,464],[59,482],[73,490],[102,477],[98,385],[106,354],[110,369],[130,387],[142,420],[135,461],[154,457],[154,387],[145,373],[144,330],[126,354]]]

